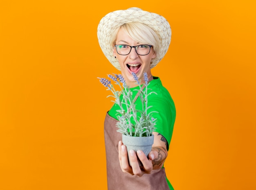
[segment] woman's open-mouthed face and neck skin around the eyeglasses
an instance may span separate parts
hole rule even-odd
[[[117,34],[116,44],[124,44],[129,46],[138,46],[142,45],[137,41],[133,40],[123,29]],[[151,45],[151,44],[148,44]],[[138,55],[135,51],[135,48],[132,48],[131,52],[128,55],[119,55],[116,52],[116,48],[113,50],[113,55],[117,57],[119,64],[121,66],[121,74],[126,80],[126,84],[130,87],[137,86],[136,81],[133,79],[132,72],[134,72],[139,80],[143,80],[143,74],[146,72],[148,77],[151,75],[150,72],[150,62],[151,59],[156,57],[153,48],[151,47],[148,55]]]

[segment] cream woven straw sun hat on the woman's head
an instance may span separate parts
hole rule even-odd
[[[110,63],[118,70],[121,70],[118,60],[113,56],[113,46],[110,44],[110,39],[112,33],[119,26],[128,22],[140,22],[146,24],[159,36],[159,39],[161,40],[159,56],[153,59],[151,63],[151,68],[155,67],[166,54],[171,42],[171,27],[168,21],[156,13],[150,13],[139,8],[132,7],[126,10],[114,11],[105,15],[99,22],[97,30],[101,50]]]

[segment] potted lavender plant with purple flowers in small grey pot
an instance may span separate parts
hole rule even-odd
[[[124,77],[121,74],[108,74],[108,77],[115,82],[120,90],[115,90],[111,81],[106,78],[99,78],[100,82],[110,90],[113,95],[107,97],[113,97],[113,101],[119,105],[120,109],[117,110],[117,132],[122,133],[123,144],[126,145],[127,151],[134,150],[137,152],[141,150],[146,156],[152,149],[154,142],[153,131],[155,129],[156,119],[152,117],[152,111],[148,112],[151,106],[148,106],[148,96],[155,92],[148,93],[148,75],[144,73],[144,84],[141,84],[137,75],[132,72],[132,76],[136,83],[139,85],[139,89],[136,90],[139,93],[139,98],[142,103],[142,110],[136,109],[135,99],[132,99],[132,91],[130,87],[126,85]],[[144,90],[145,88],[145,90]],[[156,93],[155,93],[156,94]],[[128,154],[129,155],[129,154]],[[141,165],[141,162],[139,161]]]

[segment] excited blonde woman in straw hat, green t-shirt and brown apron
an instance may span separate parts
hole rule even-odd
[[[108,13],[101,19],[97,34],[104,55],[115,68],[121,70],[126,84],[134,90],[133,98],[137,94],[138,85],[132,72],[141,81],[146,72],[150,80],[148,88],[156,92],[148,97],[148,105],[152,105],[149,111],[155,111],[153,118],[157,118],[153,132],[154,144],[148,157],[142,151],[128,153],[122,144],[121,133],[117,132],[116,127],[119,107],[113,105],[106,114],[104,135],[108,189],[173,189],[165,174],[164,161],[173,133],[175,105],[159,77],[151,74],[151,68],[159,63],[168,50],[171,41],[170,25],[158,14],[130,8]],[[141,167],[137,156],[143,164]]]

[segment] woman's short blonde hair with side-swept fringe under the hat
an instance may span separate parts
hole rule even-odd
[[[113,47],[116,45],[117,34],[121,29],[124,29],[124,31],[135,41],[142,44],[153,45],[154,52],[157,55],[156,57],[159,56],[161,47],[159,36],[152,28],[139,22],[128,22],[119,26],[111,37],[110,44],[112,44]]]

